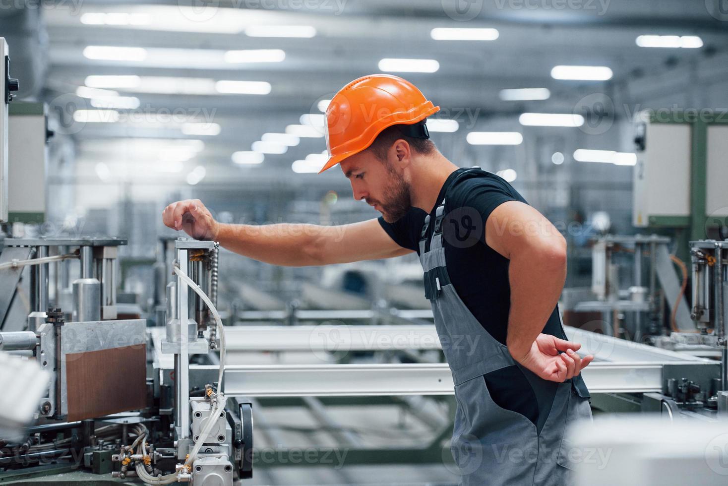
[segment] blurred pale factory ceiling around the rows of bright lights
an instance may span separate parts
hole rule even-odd
[[[189,7],[190,1],[194,7]],[[56,8],[44,12],[50,39],[44,98],[60,105],[61,112],[84,108],[88,100],[70,94],[90,75],[267,81],[272,85],[269,95],[115,89],[138,97],[140,107],[131,113],[137,115],[134,121],[76,124],[71,130],[81,141],[81,160],[128,164],[138,162],[130,138],[186,137],[177,123],[153,123],[153,115],[157,121],[175,113],[212,121],[221,125],[219,135],[186,137],[203,140],[205,148],[185,163],[185,171],[202,164],[208,173],[215,167],[218,174],[235,177],[240,167],[230,160],[234,151],[250,150],[264,132],[282,132],[286,125],[297,124],[303,113],[320,113],[318,101],[358,76],[377,72],[383,57],[438,60],[436,73],[401,76],[440,105],[443,118],[459,115],[458,132],[437,135],[443,143],[454,143],[447,140],[464,140],[468,128],[493,117],[508,119],[523,111],[571,113],[580,98],[595,90],[609,93],[627,81],[669,72],[670,65],[720,52],[726,44],[728,15],[712,4],[712,0],[178,0],[84,1],[78,7],[70,0],[58,0]],[[143,15],[149,23],[82,23],[82,15],[98,12]],[[310,39],[251,37],[245,34],[251,25],[312,25],[317,34]],[[438,27],[496,28],[499,38],[435,41],[430,31]],[[642,34],[700,36],[705,47],[637,47],[635,39]],[[90,60],[83,55],[89,45],[149,51],[147,59],[138,62]],[[229,64],[223,54],[230,49],[282,49],[285,60]],[[606,83],[557,81],[550,71],[560,64],[606,65],[614,78]],[[551,98],[525,103],[499,100],[501,89],[518,87],[545,87]],[[122,111],[122,119],[129,117]],[[301,139],[284,155],[266,155],[261,167],[254,169],[258,175],[269,169],[290,172],[293,160],[324,148],[323,138]],[[154,159],[153,154],[150,157]]]

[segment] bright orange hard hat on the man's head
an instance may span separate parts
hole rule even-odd
[[[371,146],[392,125],[412,125],[440,111],[411,82],[373,74],[350,82],[326,108],[328,162],[319,174]],[[424,129],[427,138],[427,129]]]

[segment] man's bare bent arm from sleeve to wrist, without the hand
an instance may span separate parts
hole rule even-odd
[[[510,201],[488,217],[486,243],[510,260],[507,346],[520,360],[558,303],[566,280],[566,240],[537,210]]]

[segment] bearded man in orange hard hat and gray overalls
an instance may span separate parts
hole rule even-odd
[[[425,124],[439,109],[384,74],[352,81],[328,105],[322,172],[339,164],[378,219],[260,231],[218,223],[191,199],[167,206],[164,222],[275,265],[417,252],[455,383],[451,449],[462,484],[561,486],[580,457],[566,426],[591,418],[579,372],[593,359],[561,324],[566,242],[505,180],[440,154]]]

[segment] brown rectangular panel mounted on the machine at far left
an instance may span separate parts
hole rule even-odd
[[[146,346],[124,346],[66,359],[68,421],[146,407]]]

